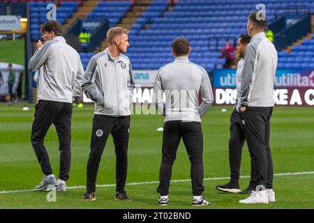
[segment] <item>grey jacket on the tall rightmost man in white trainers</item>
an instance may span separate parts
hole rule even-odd
[[[274,107],[277,52],[264,33],[257,33],[246,46],[241,79],[241,106]]]

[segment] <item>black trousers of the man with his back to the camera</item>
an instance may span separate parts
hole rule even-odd
[[[190,178],[194,196],[200,196],[204,191],[203,178],[203,134],[200,122],[167,121],[163,129],[162,160],[159,171],[157,192],[161,196],[169,193],[172,166],[176,159],[181,138],[186,146],[190,159]]]

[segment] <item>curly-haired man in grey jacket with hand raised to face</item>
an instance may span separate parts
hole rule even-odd
[[[57,190],[66,190],[65,181],[70,171],[70,139],[72,102],[81,95],[84,69],[75,49],[66,44],[61,36],[61,25],[46,22],[43,25],[45,44],[37,43],[38,49],[29,61],[29,70],[35,71],[43,66],[38,79],[38,102],[35,106],[31,128],[31,144],[40,167],[45,174],[36,190],[45,190],[57,183]],[[50,160],[44,145],[45,134],[52,123],[59,137],[60,170],[56,182],[50,167]]]

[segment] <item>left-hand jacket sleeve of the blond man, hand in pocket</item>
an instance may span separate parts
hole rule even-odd
[[[87,95],[87,98],[93,100],[94,102],[100,104],[103,103],[103,93],[99,92],[96,89],[95,85],[95,77],[96,77],[96,67],[97,61],[94,57],[89,60],[89,64],[87,65],[87,69],[84,74],[82,89]]]

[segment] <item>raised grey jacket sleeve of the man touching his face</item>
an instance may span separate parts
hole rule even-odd
[[[50,45],[52,45],[52,42],[48,41],[43,45],[43,47],[36,49],[33,56],[29,60],[29,71],[33,72],[34,70],[37,70],[43,66],[47,60],[48,55],[50,54]]]

